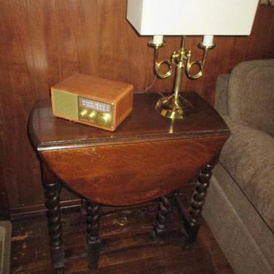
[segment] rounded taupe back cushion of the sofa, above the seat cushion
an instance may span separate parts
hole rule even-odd
[[[242,62],[229,78],[229,116],[274,136],[274,59]]]

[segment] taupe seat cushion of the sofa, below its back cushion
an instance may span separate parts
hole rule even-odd
[[[232,135],[220,162],[274,232],[274,138],[225,120]]]

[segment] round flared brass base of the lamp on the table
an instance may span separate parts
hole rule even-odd
[[[182,96],[171,95],[162,97],[155,105],[155,109],[164,117],[169,119],[184,119],[193,109],[192,104]]]

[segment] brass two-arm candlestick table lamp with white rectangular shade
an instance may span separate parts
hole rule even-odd
[[[256,14],[258,0],[127,0],[127,21],[140,35],[153,36],[149,46],[154,48],[154,73],[160,79],[170,77],[175,70],[173,95],[162,97],[156,110],[169,119],[184,119],[192,105],[179,89],[182,73],[190,79],[203,75],[208,50],[214,47],[214,35],[249,35]],[[182,36],[180,49],[169,60],[158,60],[158,49],[164,46],[163,36]],[[199,47],[203,49],[201,61],[191,61],[191,51],[185,49],[186,36],[203,35]],[[160,72],[164,65],[166,73]],[[193,74],[192,67],[198,72]]]

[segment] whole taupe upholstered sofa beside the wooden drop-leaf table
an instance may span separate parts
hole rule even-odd
[[[232,132],[203,210],[236,274],[274,273],[274,59],[219,77],[216,110]]]

